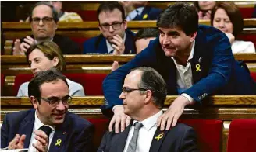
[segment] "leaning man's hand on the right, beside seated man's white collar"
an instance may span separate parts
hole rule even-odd
[[[160,126],[160,130],[169,130],[170,126],[176,126],[186,105],[190,105],[190,101],[187,98],[183,96],[176,98],[169,109],[162,116],[159,116],[157,124]]]

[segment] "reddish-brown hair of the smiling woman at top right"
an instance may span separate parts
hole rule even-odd
[[[243,31],[244,20],[239,8],[233,2],[218,2],[215,8],[212,9],[211,25],[213,26],[213,19],[215,12],[218,9],[224,9],[226,14],[229,16],[230,21],[233,24],[233,35],[236,37]]]

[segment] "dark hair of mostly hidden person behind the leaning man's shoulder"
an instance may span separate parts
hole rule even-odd
[[[138,30],[138,32],[135,35],[135,41],[140,40],[140,39],[145,39],[145,38],[150,38],[150,37],[157,37],[159,36],[159,30],[157,28],[143,28]]]

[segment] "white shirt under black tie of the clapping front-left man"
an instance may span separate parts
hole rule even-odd
[[[29,152],[36,152],[37,150],[34,148],[34,146],[32,145],[32,143],[37,143],[37,140],[34,138],[35,134],[34,134],[34,131],[35,130],[39,130],[39,128],[41,126],[48,126],[48,125],[44,125],[44,123],[41,123],[40,119],[38,119],[37,117],[37,110],[34,112],[34,127],[33,127],[33,132],[32,132],[32,135],[31,135],[31,138],[30,138],[30,147],[29,147]],[[52,126],[49,126],[52,128],[52,133],[50,133],[50,136],[49,136],[49,146],[48,146],[48,150],[49,151],[49,147],[51,145],[51,142],[52,142],[52,137],[55,133],[55,128],[52,127]]]

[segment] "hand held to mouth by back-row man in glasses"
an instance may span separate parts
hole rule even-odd
[[[114,42],[114,44],[112,44],[112,47],[115,49],[113,54],[114,55],[123,54],[126,48],[124,46],[123,38],[118,34],[116,34],[116,36],[113,37],[112,41]]]

